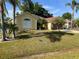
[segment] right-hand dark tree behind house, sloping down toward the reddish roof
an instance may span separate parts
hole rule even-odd
[[[52,14],[48,13],[48,10],[42,7],[42,5],[38,4],[38,2],[34,3],[34,14],[42,17],[52,17]]]

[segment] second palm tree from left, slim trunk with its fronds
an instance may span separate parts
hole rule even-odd
[[[15,13],[16,13],[16,7],[20,5],[19,0],[8,0],[8,2],[13,6],[13,19],[14,19],[14,25],[15,25]],[[16,37],[15,35],[15,30],[13,31],[14,38]]]

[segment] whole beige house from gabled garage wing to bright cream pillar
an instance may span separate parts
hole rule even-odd
[[[52,30],[52,22],[56,20],[56,18],[57,17],[43,18],[37,15],[31,14],[29,12],[25,12],[16,16],[16,25],[19,31],[24,31],[24,30],[29,30],[29,29],[37,30],[37,20],[44,19],[47,21],[48,30]]]

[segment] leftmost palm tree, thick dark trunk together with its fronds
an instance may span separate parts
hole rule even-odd
[[[1,7],[1,18],[2,18],[2,39],[3,41],[5,41],[5,24],[4,24],[4,17],[5,17],[5,14],[6,14],[6,7],[5,7],[5,0],[0,0],[0,7]]]

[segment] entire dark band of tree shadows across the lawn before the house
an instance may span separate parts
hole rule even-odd
[[[46,36],[47,38],[50,39],[51,42],[56,42],[56,41],[61,41],[62,36],[64,35],[74,35],[73,33],[67,33],[67,32],[61,32],[61,31],[52,31],[52,32],[41,32],[41,33],[36,33],[36,34],[30,34],[30,35],[19,35],[16,38],[18,39],[28,39],[28,38],[33,38],[33,37],[42,37]],[[42,42],[42,41],[41,41]]]

